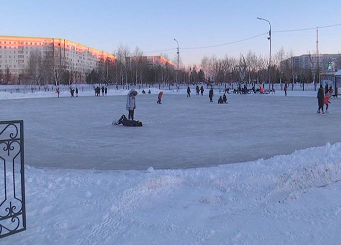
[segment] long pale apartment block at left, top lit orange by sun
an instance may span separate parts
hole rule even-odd
[[[73,72],[76,82],[85,82],[86,74],[96,68],[100,60],[115,61],[115,56],[66,39],[42,37],[0,36],[0,72],[9,68],[13,80],[26,73],[30,55],[51,57],[52,69]],[[54,59],[52,59],[54,57]]]

